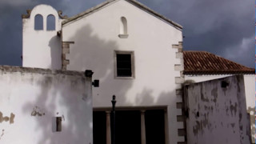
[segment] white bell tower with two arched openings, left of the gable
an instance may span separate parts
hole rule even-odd
[[[41,14],[43,30],[34,30],[34,17]],[[55,30],[46,30],[46,19],[49,14],[55,17]],[[48,5],[35,6],[30,18],[22,18],[22,66],[61,69],[61,38],[57,35],[61,30],[62,19],[57,10]]]

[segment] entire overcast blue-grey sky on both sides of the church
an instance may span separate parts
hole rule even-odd
[[[73,16],[104,0],[0,0],[0,65],[22,66],[22,14],[50,4]],[[254,67],[253,0],[139,0],[183,26],[184,50],[204,50]]]

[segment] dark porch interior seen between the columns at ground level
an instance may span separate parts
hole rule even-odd
[[[94,144],[106,144],[106,112],[94,111]],[[141,144],[141,111],[116,111],[117,144]],[[165,144],[164,110],[146,110],[146,144]]]

